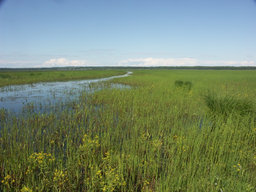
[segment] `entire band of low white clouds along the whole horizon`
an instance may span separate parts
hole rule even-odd
[[[113,58],[112,58],[113,59]],[[139,58],[121,61],[89,62],[87,60],[68,60],[66,58],[50,59],[40,64],[34,61],[10,61],[0,60],[0,67],[86,67],[86,66],[134,66],[134,67],[157,67],[157,66],[255,66],[254,61],[213,61],[198,60],[193,58]]]

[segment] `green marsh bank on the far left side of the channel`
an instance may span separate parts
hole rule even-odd
[[[95,79],[125,74],[124,70],[58,70],[58,71],[0,71],[0,87],[37,82]]]

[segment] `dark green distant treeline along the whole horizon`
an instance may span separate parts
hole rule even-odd
[[[134,70],[134,69],[169,69],[169,70],[256,70],[256,67],[232,67],[232,66],[193,66],[193,67],[42,67],[42,68],[0,68],[0,71],[35,71],[35,70]]]

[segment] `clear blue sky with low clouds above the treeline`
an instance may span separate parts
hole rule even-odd
[[[1,0],[0,68],[256,66],[256,0]]]

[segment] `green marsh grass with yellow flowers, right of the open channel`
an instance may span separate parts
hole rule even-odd
[[[134,71],[51,113],[2,109],[1,190],[254,191],[255,73]]]

